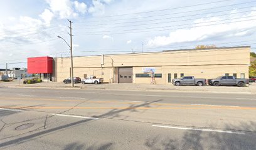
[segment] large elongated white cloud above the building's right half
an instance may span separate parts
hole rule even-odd
[[[240,17],[248,17],[255,16],[256,11],[247,14],[247,16]],[[149,47],[159,47],[159,46],[167,46],[169,44],[178,43],[178,42],[195,42],[195,41],[203,41],[206,39],[211,39],[213,37],[226,38],[233,36],[245,36],[246,34],[250,34],[254,32],[256,27],[256,21],[246,21],[248,18],[244,19],[233,19],[237,18],[237,16],[220,18],[220,17],[211,17],[209,19],[196,19],[194,21],[195,25],[193,25],[190,29],[176,29],[169,33],[169,36],[155,36],[152,39],[149,39],[147,42],[147,46]],[[220,22],[209,22],[209,21],[220,21],[225,19],[232,19],[229,22],[220,24]],[[249,19],[256,19],[249,18]],[[241,21],[241,22],[239,22]],[[209,24],[215,24],[212,26],[207,26]]]

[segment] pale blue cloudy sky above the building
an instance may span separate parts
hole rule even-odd
[[[0,6],[0,68],[26,67],[26,58],[187,49],[200,44],[252,46],[256,1],[9,0]]]

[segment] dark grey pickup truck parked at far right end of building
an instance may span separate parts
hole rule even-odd
[[[208,79],[211,86],[245,86],[249,84],[249,79],[237,79],[234,76],[219,76],[216,79]]]

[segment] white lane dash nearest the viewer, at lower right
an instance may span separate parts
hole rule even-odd
[[[227,130],[181,128],[181,127],[174,127],[174,126],[158,126],[158,125],[152,125],[152,126],[153,127],[159,127],[159,128],[183,129],[183,130],[194,130],[194,131],[208,131],[208,132],[215,132],[215,133],[245,134],[245,133],[241,133],[241,132],[233,132],[233,131],[227,131]]]

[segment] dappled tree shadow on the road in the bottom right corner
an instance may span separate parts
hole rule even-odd
[[[244,126],[237,128],[255,128],[256,123],[242,123]],[[230,125],[227,125],[228,128]],[[234,126],[233,126],[234,127]],[[245,132],[243,134],[216,133],[205,131],[184,131],[182,138],[173,138],[172,129],[166,129],[170,136],[158,135],[147,138],[144,145],[150,150],[161,149],[223,149],[223,150],[249,150],[256,149],[256,133]]]

